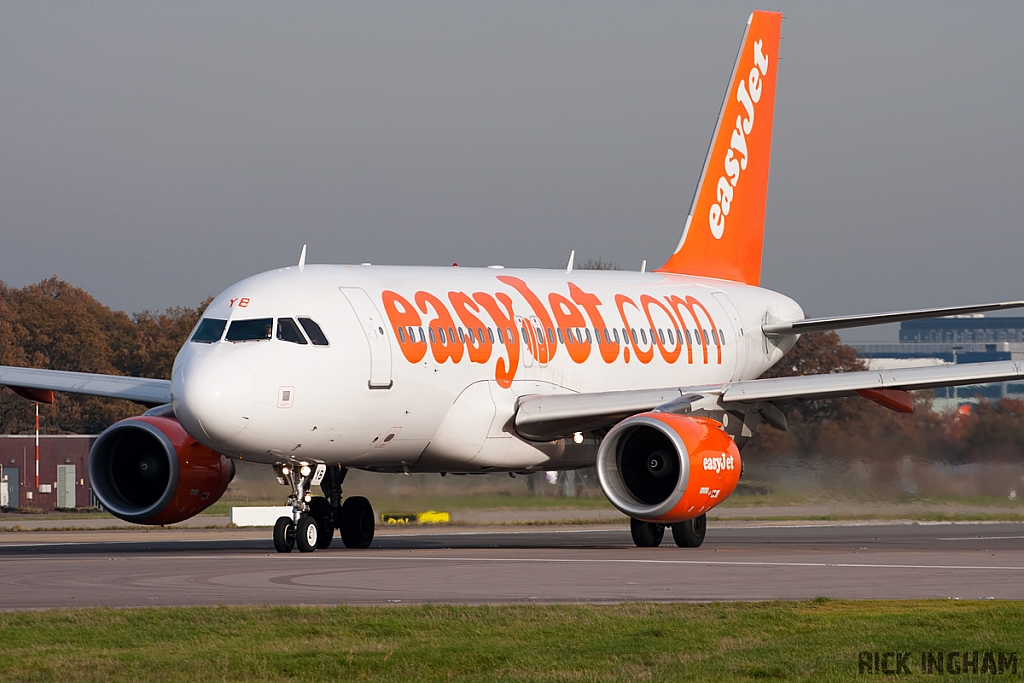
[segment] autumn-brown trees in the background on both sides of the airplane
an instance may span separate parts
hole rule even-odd
[[[210,300],[128,314],[57,278],[22,289],[0,283],[0,365],[170,379],[174,356]],[[801,337],[765,377],[864,369],[839,335],[814,333]],[[783,404],[788,430],[761,425],[744,454],[890,461],[910,455],[954,462],[1024,454],[1024,401],[981,401],[970,415],[936,414],[929,392],[919,392],[915,401],[912,415],[859,397],[793,401]],[[40,415],[46,433],[85,434],[142,410],[123,400],[57,394],[53,405],[40,407]],[[32,403],[0,391],[0,433],[33,430]]]

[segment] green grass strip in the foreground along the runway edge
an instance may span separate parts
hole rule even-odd
[[[1024,654],[1022,607],[818,599],[6,612],[0,681],[840,681],[863,679],[862,651],[911,652],[900,680],[935,680],[921,674],[923,651]]]

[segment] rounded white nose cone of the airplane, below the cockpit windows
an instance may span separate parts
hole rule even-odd
[[[193,357],[179,362],[171,378],[174,415],[207,445],[223,447],[246,428],[256,405],[256,379],[227,358]]]

